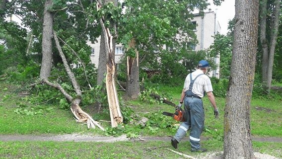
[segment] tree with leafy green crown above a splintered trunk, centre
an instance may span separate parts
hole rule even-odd
[[[220,2],[220,0],[217,0]],[[125,13],[119,22],[119,42],[125,45],[127,64],[127,90],[128,98],[136,98],[140,93],[139,68],[141,62],[158,66],[162,46],[173,46],[175,57],[176,50],[181,50],[184,43],[196,43],[195,27],[190,21],[193,11],[199,9],[200,13],[207,8],[209,3],[205,0],[125,0]],[[134,39],[135,48],[130,49]],[[188,40],[189,39],[189,40]],[[178,57],[179,61],[181,57]],[[171,58],[174,59],[174,58]],[[137,61],[139,60],[139,61]],[[149,68],[149,67],[147,67]],[[150,68],[149,68],[150,69]]]

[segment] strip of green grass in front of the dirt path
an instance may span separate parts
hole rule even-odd
[[[222,151],[222,142],[202,142],[209,151]],[[170,152],[170,142],[0,142],[1,159],[179,159],[181,156]],[[191,153],[189,142],[181,142],[177,152],[197,157]],[[271,149],[269,149],[271,148]],[[272,154],[282,158],[282,143],[253,142],[256,152]],[[201,154],[207,155],[207,153]]]

